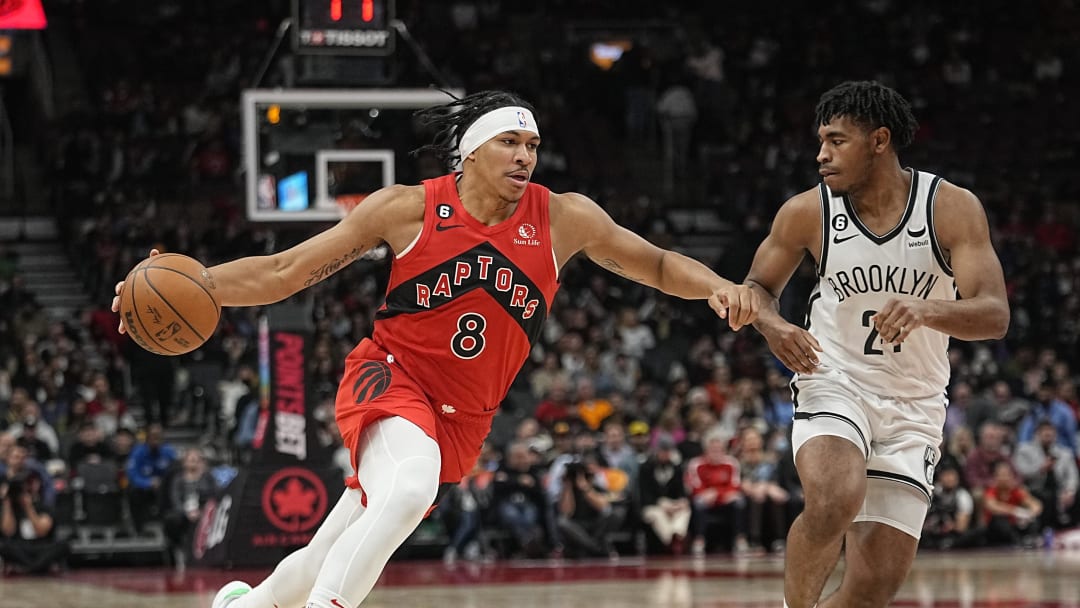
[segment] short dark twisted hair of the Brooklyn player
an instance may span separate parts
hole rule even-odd
[[[829,89],[818,100],[815,111],[818,124],[848,117],[866,129],[885,126],[892,133],[895,150],[906,148],[919,126],[907,99],[873,80],[848,81]]]

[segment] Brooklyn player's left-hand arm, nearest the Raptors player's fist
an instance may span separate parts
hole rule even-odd
[[[772,221],[769,235],[754,254],[746,284],[762,302],[754,327],[761,333],[769,349],[792,371],[812,374],[818,367],[821,346],[806,329],[780,315],[780,294],[802,262],[813,239],[820,240],[821,211],[815,190],[788,200]]]

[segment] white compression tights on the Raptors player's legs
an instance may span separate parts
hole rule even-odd
[[[373,424],[357,451],[367,508],[360,490],[347,489],[311,542],[229,608],[354,608],[367,597],[435,500],[442,459],[438,444],[404,418]]]

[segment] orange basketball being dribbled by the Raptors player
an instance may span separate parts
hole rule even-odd
[[[149,257],[127,273],[120,292],[120,319],[144,349],[164,355],[201,347],[221,316],[214,280],[194,258],[180,254]]]

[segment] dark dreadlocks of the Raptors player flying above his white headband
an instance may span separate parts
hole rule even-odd
[[[458,140],[469,125],[487,112],[507,106],[521,106],[536,113],[531,104],[507,91],[481,91],[449,104],[418,110],[414,116],[422,126],[433,130],[435,135],[431,144],[413,150],[413,156],[430,151],[447,170],[453,170],[461,160]]]

